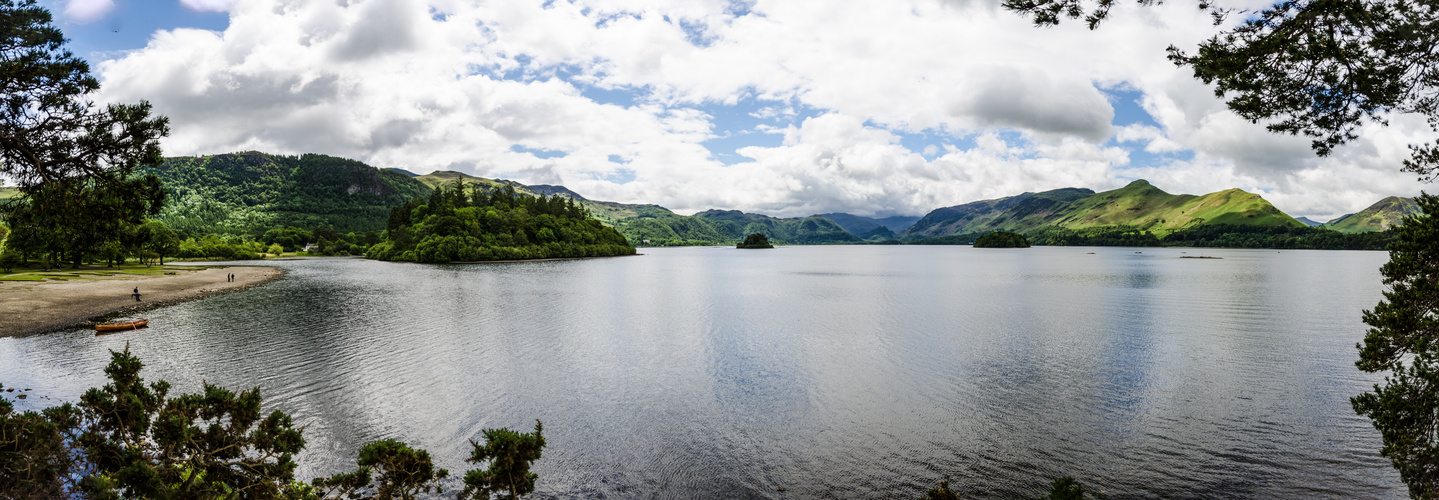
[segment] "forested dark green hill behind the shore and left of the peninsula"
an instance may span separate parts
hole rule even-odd
[[[194,232],[381,231],[390,207],[430,193],[406,174],[324,154],[173,157],[141,173],[154,173],[170,193],[160,219]]]

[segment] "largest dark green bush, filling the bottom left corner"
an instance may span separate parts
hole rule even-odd
[[[305,445],[288,415],[260,412],[259,389],[206,383],[168,398],[144,365],[112,352],[109,383],[78,405],[16,414],[0,399],[0,497],[275,499]]]

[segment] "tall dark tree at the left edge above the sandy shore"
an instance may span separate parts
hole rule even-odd
[[[79,267],[160,212],[160,182],[132,174],[161,161],[168,121],[147,102],[96,107],[99,82],[63,46],[35,0],[0,0],[0,174],[22,195],[0,205],[19,236],[7,246]]]

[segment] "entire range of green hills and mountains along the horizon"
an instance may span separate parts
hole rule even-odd
[[[685,216],[658,205],[591,200],[564,186],[527,186],[458,171],[414,174],[322,154],[246,151],[171,157],[147,171],[157,174],[170,192],[161,219],[189,232],[255,233],[282,225],[338,232],[383,231],[390,207],[429,196],[436,186],[453,182],[574,199],[636,245],[732,244],[754,232],[766,233],[776,244],[812,245],[922,241],[993,231],[1035,233],[1055,228],[1122,228],[1164,236],[1204,225],[1314,225],[1239,189],[1171,195],[1145,180],[1108,192],[1066,187],[940,207],[922,218],[876,219],[850,213],[771,218],[718,209]],[[1384,231],[1416,210],[1412,199],[1387,197],[1322,226],[1345,233]]]

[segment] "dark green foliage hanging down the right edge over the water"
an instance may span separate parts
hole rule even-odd
[[[1380,268],[1389,291],[1364,311],[1368,331],[1356,366],[1384,373],[1384,383],[1354,396],[1354,411],[1383,435],[1380,452],[1415,499],[1439,497],[1439,197],[1416,199],[1422,215],[1404,219]]]

